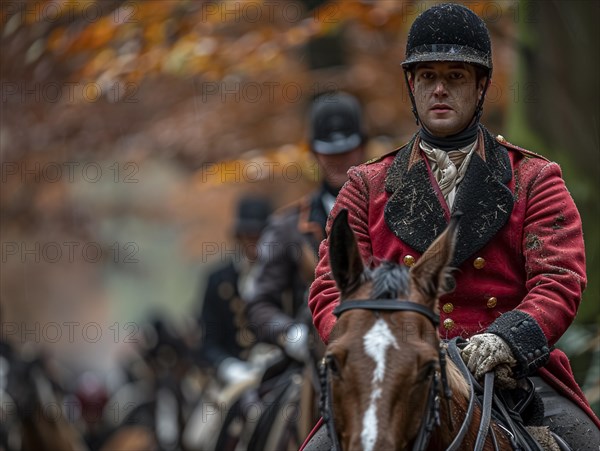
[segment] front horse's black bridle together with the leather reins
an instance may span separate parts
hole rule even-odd
[[[378,311],[408,311],[419,313],[425,316],[434,328],[437,330],[440,319],[439,316],[433,313],[423,305],[416,304],[414,302],[398,299],[366,299],[366,300],[345,300],[333,310],[333,314],[336,317],[340,317],[344,312],[349,310],[371,310],[374,312]],[[474,417],[475,407],[477,405],[481,408],[481,421],[479,424],[477,439],[474,446],[474,451],[481,451],[485,445],[488,433],[491,434],[492,443],[495,450],[499,450],[498,442],[494,434],[494,430],[491,428],[492,420],[492,404],[495,406],[494,417],[498,420],[499,417],[502,419],[504,425],[498,424],[500,428],[504,430],[508,436],[513,449],[515,450],[540,450],[535,442],[528,443],[523,437],[523,431],[515,424],[511,419],[511,412],[508,412],[504,405],[497,399],[494,394],[494,372],[489,372],[485,375],[484,387],[482,388],[475,378],[471,375],[471,372],[465,365],[460,356],[459,344],[465,343],[465,340],[457,337],[450,340],[447,343],[448,354],[454,364],[458,367],[459,371],[463,375],[466,381],[469,382],[469,404],[465,413],[465,418],[461,424],[456,436],[446,448],[446,451],[457,451],[462,444]],[[441,382],[443,388],[443,397],[446,401],[447,411],[450,415],[450,430],[454,431],[454,421],[452,418],[452,409],[450,408],[450,402],[452,400],[452,392],[448,385],[448,378],[446,375],[446,348],[440,346],[439,350],[439,366],[441,374]],[[319,368],[320,379],[321,379],[321,414],[323,421],[327,425],[327,432],[332,441],[332,450],[342,451],[342,447],[339,443],[338,435],[335,431],[334,418],[333,418],[333,399],[332,399],[332,388],[331,388],[331,358],[324,357],[321,361]],[[417,433],[417,436],[413,442],[412,451],[424,451],[427,449],[431,434],[435,427],[439,427],[441,424],[440,420],[440,394],[439,394],[439,379],[440,374],[434,369],[431,372],[431,383],[429,386],[429,393],[427,397],[426,416],[424,421],[421,422],[421,426]],[[483,399],[480,401],[476,393],[483,393]]]

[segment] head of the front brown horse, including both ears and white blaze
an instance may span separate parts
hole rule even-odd
[[[410,270],[391,263],[368,269],[347,211],[336,217],[329,256],[342,300],[325,357],[326,403],[342,449],[404,449],[420,434],[440,371],[434,312],[456,226],[453,219]],[[380,307],[366,306],[374,301]]]

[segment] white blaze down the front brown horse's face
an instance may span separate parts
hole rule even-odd
[[[386,354],[389,347],[398,349],[398,342],[387,323],[382,319],[378,319],[363,337],[365,354],[375,362],[373,391],[371,392],[369,407],[363,417],[363,430],[360,434],[365,451],[372,451],[377,442],[377,400],[381,397],[379,385],[385,377]]]

